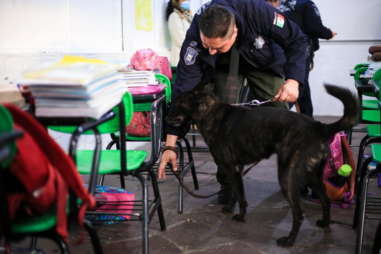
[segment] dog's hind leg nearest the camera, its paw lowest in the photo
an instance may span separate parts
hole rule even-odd
[[[293,166],[296,166],[294,164]],[[279,167],[280,164],[279,164]],[[283,195],[285,196],[288,204],[291,206],[293,222],[292,229],[289,236],[283,236],[277,240],[277,244],[282,246],[290,246],[295,243],[296,236],[299,233],[300,226],[302,225],[304,219],[303,205],[300,199],[300,187],[299,179],[296,172],[301,172],[300,169],[291,168],[290,164],[287,165],[287,169],[279,168],[278,178],[280,188],[282,189]]]

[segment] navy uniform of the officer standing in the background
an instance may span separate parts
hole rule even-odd
[[[300,112],[312,117],[311,92],[308,83],[308,76],[311,65],[311,53],[319,49],[319,40],[331,39],[332,31],[323,26],[319,10],[314,2],[310,0],[280,0],[278,10],[282,11],[287,18],[294,21],[301,31],[307,35],[309,52],[307,54],[306,72],[303,87],[299,87],[298,103]]]

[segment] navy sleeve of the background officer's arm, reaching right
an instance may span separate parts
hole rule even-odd
[[[329,40],[332,38],[332,31],[323,26],[320,13],[315,3],[308,1],[306,3],[306,10],[304,12],[304,24],[306,28],[306,34],[314,35],[320,39]]]

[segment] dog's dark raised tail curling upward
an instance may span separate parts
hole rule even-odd
[[[359,122],[357,97],[348,88],[328,84],[324,84],[324,86],[327,93],[338,98],[344,104],[343,117],[337,122],[327,124],[327,134],[334,135],[336,132],[352,128]]]

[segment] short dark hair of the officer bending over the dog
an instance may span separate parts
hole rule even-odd
[[[224,38],[231,36],[233,34],[232,28],[234,24],[234,14],[223,5],[209,5],[200,14],[199,29],[207,38]]]

